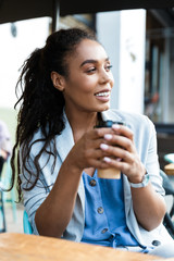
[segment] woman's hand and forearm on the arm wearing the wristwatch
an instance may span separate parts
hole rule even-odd
[[[134,145],[134,135],[130,129],[124,126],[113,127],[114,134],[112,136],[105,136],[108,141],[108,148],[105,152],[108,156],[112,154],[114,158],[120,158],[122,161],[116,161],[110,157],[107,157],[107,162],[120,169],[128,178],[130,183],[140,183],[146,173],[144,164],[136,152]],[[152,136],[152,139],[156,137]],[[111,146],[111,145],[119,145]],[[156,142],[154,142],[156,144]],[[149,142],[149,147],[153,147],[153,142]],[[150,164],[156,163],[156,170],[158,163],[152,162],[152,153],[154,148],[148,148],[148,169],[154,170]],[[133,198],[133,208],[138,223],[147,231],[156,228],[162,221],[165,213],[165,203],[161,195],[159,195],[151,183],[144,188],[130,188]]]

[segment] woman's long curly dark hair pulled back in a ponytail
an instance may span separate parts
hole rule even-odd
[[[34,188],[39,179],[38,160],[45,151],[53,154],[55,162],[55,145],[51,152],[48,152],[50,141],[55,135],[60,135],[64,128],[63,108],[64,97],[61,91],[53,87],[51,72],[58,72],[64,77],[69,77],[67,58],[76,50],[77,45],[83,39],[96,40],[95,35],[79,29],[60,29],[51,34],[41,49],[36,49],[30,57],[24,62],[22,73],[16,84],[22,95],[14,108],[20,104],[16,127],[16,142],[13,147],[11,165],[12,165],[12,185],[14,186],[15,176],[17,175],[18,200],[22,199],[21,178],[20,178],[20,154],[23,167],[27,170],[29,178],[25,189]],[[40,128],[42,139],[32,141],[34,134]],[[42,148],[34,159],[36,173],[27,166],[32,146],[38,141],[44,141]],[[21,147],[21,152],[18,148]],[[50,157],[50,156],[49,156]],[[17,159],[17,171],[15,170],[15,159]],[[17,174],[15,174],[15,172]],[[23,173],[22,173],[23,174]],[[33,181],[33,182],[32,182]]]

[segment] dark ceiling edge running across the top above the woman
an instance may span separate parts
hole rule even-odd
[[[59,7],[59,8],[58,8]],[[0,0],[0,23],[21,20],[115,11],[173,8],[174,0]]]

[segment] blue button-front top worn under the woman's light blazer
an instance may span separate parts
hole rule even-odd
[[[126,226],[123,181],[83,173],[85,229],[82,241],[108,247],[139,246]],[[112,197],[112,198],[111,198]]]

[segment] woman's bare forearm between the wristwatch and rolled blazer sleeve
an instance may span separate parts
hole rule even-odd
[[[164,199],[158,195],[152,185],[132,188],[133,208],[138,223],[147,231],[152,231],[162,222],[165,214]]]

